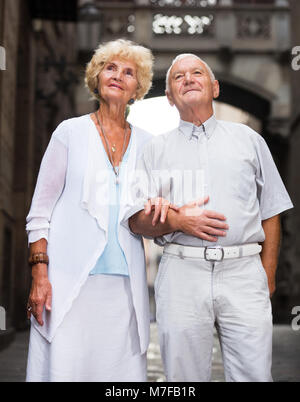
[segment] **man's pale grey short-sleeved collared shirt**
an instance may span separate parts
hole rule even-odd
[[[246,125],[216,120],[202,126],[180,121],[144,149],[137,169],[140,206],[162,196],[178,206],[209,195],[204,208],[227,217],[229,230],[216,243],[182,232],[155,239],[159,245],[232,246],[265,239],[262,220],[293,207],[265,140]]]

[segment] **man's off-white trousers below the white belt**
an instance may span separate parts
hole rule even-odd
[[[208,262],[164,253],[155,299],[167,381],[210,381],[214,326],[226,381],[272,381],[272,311],[259,254]]]

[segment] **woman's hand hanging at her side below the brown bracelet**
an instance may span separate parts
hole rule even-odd
[[[31,314],[37,322],[43,326],[43,310],[51,311],[52,303],[52,286],[48,279],[47,265],[35,264],[32,267],[32,285],[27,303],[27,318],[30,319]]]

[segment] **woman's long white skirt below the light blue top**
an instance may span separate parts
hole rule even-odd
[[[51,343],[31,326],[27,382],[146,380],[127,277],[89,276]]]

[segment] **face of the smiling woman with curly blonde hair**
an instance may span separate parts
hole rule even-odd
[[[134,62],[113,59],[105,64],[98,78],[98,90],[105,101],[126,105],[130,99],[136,99],[138,81]]]

